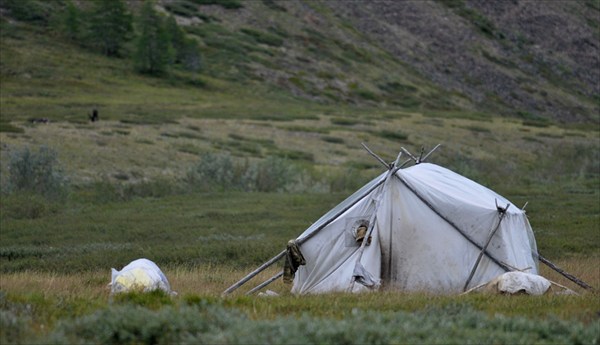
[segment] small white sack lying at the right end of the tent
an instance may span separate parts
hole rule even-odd
[[[537,274],[514,271],[499,275],[489,282],[487,287],[500,293],[543,295],[550,285],[548,279]]]

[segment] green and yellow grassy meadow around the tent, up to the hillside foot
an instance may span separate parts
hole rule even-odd
[[[430,109],[424,90],[410,106],[341,104],[219,71],[140,76],[34,27],[2,31],[0,343],[600,342],[597,124]],[[540,265],[578,295],[293,296],[280,281],[279,297],[244,295],[280,263],[221,297],[380,173],[362,142],[389,161],[442,144],[431,162],[527,203],[540,253],[595,290]],[[57,154],[58,197],[9,188],[11,160],[40,147]],[[196,188],[206,153],[276,157],[292,170],[275,176],[296,177],[268,192]],[[109,296],[110,268],[141,257],[177,296]]]

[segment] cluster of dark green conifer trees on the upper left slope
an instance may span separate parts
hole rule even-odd
[[[88,4],[66,4],[59,26],[67,38],[107,56],[131,55],[141,73],[160,75],[174,65],[199,70],[197,42],[185,35],[175,18],[159,13],[152,0],[144,1],[137,16],[124,0]]]

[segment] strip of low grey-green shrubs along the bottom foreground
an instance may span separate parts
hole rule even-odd
[[[193,301],[190,300],[193,303]],[[600,324],[493,317],[468,306],[379,312],[355,309],[344,319],[310,315],[254,320],[198,300],[152,311],[119,306],[62,322],[49,343],[143,344],[592,344]]]

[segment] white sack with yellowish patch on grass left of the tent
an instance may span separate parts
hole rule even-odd
[[[112,268],[110,292],[154,291],[163,290],[174,293],[167,277],[158,266],[148,259],[137,259],[123,267],[121,271]]]

